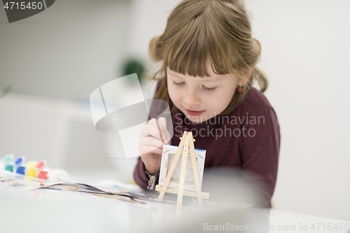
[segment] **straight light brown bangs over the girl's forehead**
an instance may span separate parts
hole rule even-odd
[[[195,18],[166,41],[162,51],[165,68],[202,78],[209,76],[209,65],[218,75],[235,73],[229,38],[223,37],[207,20]]]

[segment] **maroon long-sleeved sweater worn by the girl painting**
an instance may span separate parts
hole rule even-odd
[[[207,150],[205,168],[235,167],[251,171],[254,176],[246,178],[264,184],[265,188],[255,190],[262,205],[269,206],[276,184],[280,134],[276,113],[262,92],[252,88],[246,99],[225,116],[216,115],[206,122],[193,123],[176,108],[172,121],[172,145],[179,146],[183,131],[192,131],[195,148]],[[144,171],[144,163],[139,158],[134,178],[141,188],[148,185]]]

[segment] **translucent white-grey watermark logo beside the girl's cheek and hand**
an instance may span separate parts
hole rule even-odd
[[[139,156],[139,134],[148,116],[165,118],[170,136],[174,135],[167,101],[145,100],[137,73],[98,87],[90,94],[90,108],[97,131],[119,134],[126,158]]]

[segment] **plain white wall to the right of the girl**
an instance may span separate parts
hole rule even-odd
[[[350,219],[349,1],[249,1],[281,126],[276,208]]]

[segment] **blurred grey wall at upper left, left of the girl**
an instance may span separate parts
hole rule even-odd
[[[15,92],[88,99],[120,77],[130,1],[60,0],[8,23],[0,8],[1,83]]]

